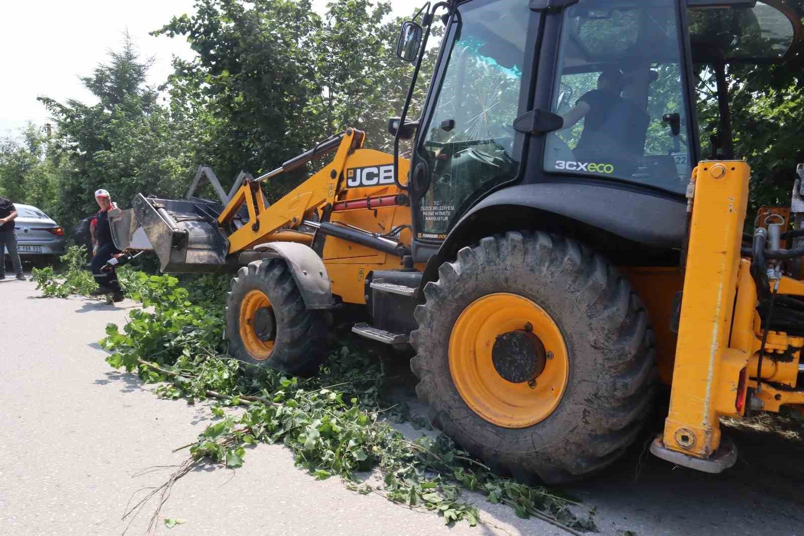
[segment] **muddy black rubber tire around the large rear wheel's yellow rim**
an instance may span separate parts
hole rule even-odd
[[[564,339],[563,394],[532,425],[499,426],[482,418],[462,397],[450,368],[450,359],[453,367],[464,359],[450,354],[453,329],[490,295],[535,304]],[[642,430],[657,377],[654,335],[642,301],[600,254],[546,233],[486,237],[445,262],[438,280],[426,285],[425,298],[416,307],[418,329],[411,336],[416,394],[429,406],[433,424],[499,472],[547,483],[579,480],[611,464]],[[458,342],[453,338],[453,346]],[[482,344],[477,348],[472,359],[482,361]],[[541,386],[542,377],[536,383]]]

